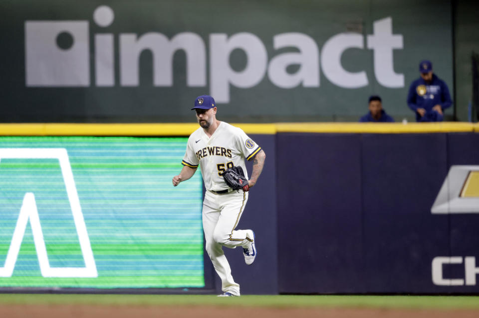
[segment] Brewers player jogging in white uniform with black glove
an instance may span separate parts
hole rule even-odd
[[[233,190],[227,186],[222,174],[228,168],[240,166],[249,187],[254,186],[261,174],[266,155],[240,128],[216,119],[215,100],[203,95],[195,100],[196,118],[201,127],[188,139],[183,169],[173,177],[173,186],[190,179],[198,166],[201,168],[206,193],[203,201],[203,229],[206,250],[222,281],[223,294],[240,296],[240,285],[235,283],[231,268],[223,252],[228,248],[243,248],[244,261],[250,265],[256,257],[254,232],[250,229],[236,230],[241,213],[248,201],[245,190]],[[244,159],[253,160],[251,179]]]

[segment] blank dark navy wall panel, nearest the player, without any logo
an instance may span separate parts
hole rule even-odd
[[[360,137],[277,134],[280,293],[363,291]]]

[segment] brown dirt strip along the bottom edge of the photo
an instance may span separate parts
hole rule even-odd
[[[1,305],[5,318],[477,318],[479,310],[264,308],[217,306]]]

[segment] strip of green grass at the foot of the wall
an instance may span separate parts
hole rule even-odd
[[[0,305],[249,306],[479,309],[479,296],[241,296],[0,294]]]

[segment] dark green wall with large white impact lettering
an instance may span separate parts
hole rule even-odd
[[[0,1],[2,122],[397,121],[418,64],[452,95],[451,1]],[[427,14],[425,14],[427,12]],[[454,114],[446,111],[447,118]]]

